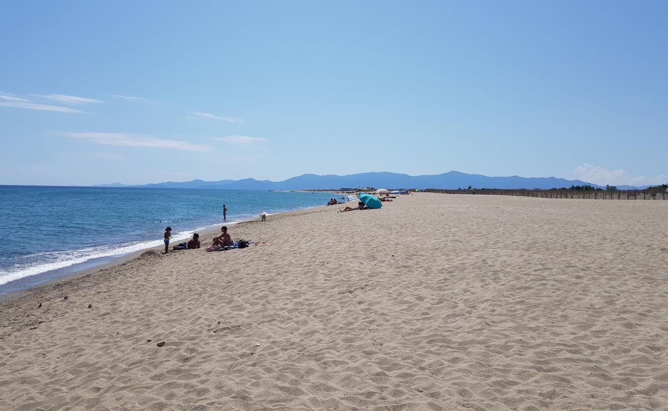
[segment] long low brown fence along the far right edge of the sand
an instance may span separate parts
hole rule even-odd
[[[441,194],[476,194],[538,198],[585,198],[591,200],[668,200],[668,192],[647,190],[498,190],[496,188],[480,188],[479,190],[436,190],[435,188],[428,188],[424,191],[438,192]]]

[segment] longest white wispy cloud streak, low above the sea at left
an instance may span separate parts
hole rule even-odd
[[[106,144],[108,146],[173,148],[175,150],[185,151],[206,151],[210,149],[210,147],[202,146],[200,144],[192,144],[178,140],[166,140],[164,138],[155,138],[144,134],[99,132],[62,132],[61,134],[69,138],[81,138],[83,140],[89,140],[98,144]]]

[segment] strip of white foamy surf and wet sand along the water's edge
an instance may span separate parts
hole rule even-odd
[[[307,210],[311,210],[311,209],[318,209],[320,207],[327,207],[327,206],[319,205],[319,206],[314,206],[314,207],[307,207],[305,209],[283,211],[281,213],[273,213],[273,214],[267,213],[267,218],[268,219],[269,219],[269,217],[274,217],[275,218],[275,217],[278,217],[278,216],[281,216],[281,215],[287,215],[287,214],[290,214],[290,213],[299,213],[301,211],[307,211]],[[251,223],[251,222],[256,221],[256,220],[259,220],[259,217],[251,217],[251,218],[242,219],[242,220],[239,220],[239,221],[233,221],[232,223],[226,223],[226,222],[222,221],[220,223],[216,223],[216,224],[204,227],[202,231],[198,231],[198,229],[192,229],[192,230],[188,230],[188,231],[192,231],[192,233],[198,232],[198,234],[200,235],[200,243],[203,244],[203,241],[202,241],[203,238],[205,238],[205,237],[208,238],[209,235],[218,233],[218,229],[214,228],[214,227],[222,227],[223,225],[227,225],[228,227],[238,227],[238,225],[242,225],[242,224],[245,224],[245,223]],[[181,239],[172,239],[172,241],[170,241],[170,249],[174,245],[178,244],[177,241],[182,242],[184,240],[192,238],[192,233],[188,234],[186,237],[183,237]],[[206,247],[202,247],[202,248],[206,249]],[[49,287],[51,285],[54,285],[55,283],[57,283],[57,284],[66,283],[69,280],[74,280],[74,279],[78,279],[80,277],[86,277],[88,275],[93,275],[95,273],[98,273],[100,271],[104,271],[104,270],[107,270],[107,269],[113,269],[116,266],[124,265],[124,264],[128,263],[129,261],[133,261],[134,259],[138,259],[139,257],[141,257],[142,254],[146,253],[147,251],[158,251],[158,252],[162,253],[162,251],[164,251],[164,245],[156,245],[156,246],[152,246],[152,247],[145,247],[145,248],[142,248],[142,249],[138,249],[136,251],[132,251],[130,253],[121,253],[121,254],[118,254],[118,255],[109,255],[109,256],[106,256],[106,257],[96,257],[96,258],[93,258],[91,260],[83,261],[81,263],[75,263],[73,265],[69,265],[67,267],[62,267],[62,268],[59,268],[59,269],[44,271],[43,273],[29,275],[29,276],[26,276],[26,277],[21,277],[19,279],[9,281],[5,284],[0,285],[0,288],[7,285],[7,284],[14,283],[15,281],[30,281],[30,279],[33,278],[33,277],[44,277],[44,276],[47,276],[47,275],[53,275],[53,273],[57,273],[57,271],[63,271],[63,270],[65,271],[65,273],[62,273],[61,275],[56,274],[53,278],[45,279],[44,281],[39,281],[39,279],[37,279],[37,280],[35,280],[35,281],[38,281],[37,283],[35,283],[34,285],[28,285],[25,289],[18,289],[16,291],[9,291],[7,293],[1,293],[0,294],[0,303],[3,303],[5,301],[9,301],[9,300],[13,300],[13,299],[19,299],[19,298],[23,297],[24,295],[26,295],[27,293],[30,293],[30,291],[37,290],[41,287]],[[187,250],[184,250],[184,251],[187,251]],[[171,251],[170,250],[170,253],[172,253],[172,252],[179,252],[179,251]],[[83,268],[81,270],[75,270],[75,271],[67,272],[67,271],[69,271],[68,270],[69,267],[73,267],[73,266],[77,266],[77,265],[86,265],[87,263],[89,263],[90,261],[95,260],[95,259],[110,259],[110,261],[108,261],[106,263],[94,264],[92,267]]]

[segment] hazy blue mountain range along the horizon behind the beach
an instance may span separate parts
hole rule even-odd
[[[139,188],[226,188],[230,190],[328,190],[337,188],[440,188],[457,189],[467,188],[560,188],[571,185],[590,184],[580,180],[566,180],[556,177],[488,177],[482,174],[466,174],[464,172],[450,171],[438,175],[409,176],[395,172],[363,172],[360,174],[349,174],[337,176],[328,174],[319,176],[316,174],[302,174],[301,176],[288,178],[283,181],[255,180],[255,178],[244,178],[243,180],[219,180],[204,181],[192,180],[184,182],[158,182],[156,184],[126,185],[120,182],[113,184],[100,184],[96,187],[139,187]],[[591,184],[599,187],[596,184]],[[633,190],[646,188],[647,186],[617,186],[620,190]]]

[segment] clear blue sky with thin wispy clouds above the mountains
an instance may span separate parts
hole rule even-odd
[[[666,1],[0,5],[0,184],[668,182]]]

